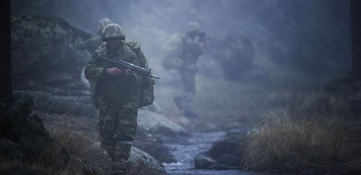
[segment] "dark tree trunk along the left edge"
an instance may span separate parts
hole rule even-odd
[[[12,99],[11,41],[10,41],[10,0],[5,0],[0,10],[0,101]]]

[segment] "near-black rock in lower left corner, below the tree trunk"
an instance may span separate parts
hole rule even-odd
[[[1,105],[0,157],[7,162],[26,162],[61,169],[70,157],[64,146],[54,141],[38,115],[30,115],[30,95],[14,95],[14,102]]]

